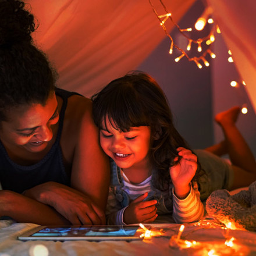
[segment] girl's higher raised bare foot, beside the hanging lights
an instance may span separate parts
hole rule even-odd
[[[240,106],[233,106],[233,108],[227,109],[221,113],[218,113],[215,116],[215,121],[223,126],[223,125],[234,125],[236,120],[240,114]]]

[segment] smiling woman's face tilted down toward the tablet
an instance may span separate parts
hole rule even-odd
[[[29,152],[40,152],[52,140],[52,126],[58,123],[58,102],[55,94],[46,104],[19,106],[6,112],[8,121],[2,121],[0,138],[8,147],[19,147]]]

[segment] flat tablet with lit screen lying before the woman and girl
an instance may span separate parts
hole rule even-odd
[[[140,226],[38,226],[17,238],[27,240],[136,240],[145,231]]]

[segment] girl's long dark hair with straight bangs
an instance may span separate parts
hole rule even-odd
[[[111,81],[92,100],[94,122],[99,129],[106,117],[120,131],[137,126],[151,128],[152,184],[160,190],[166,189],[169,168],[177,163],[176,149],[189,145],[175,129],[168,100],[157,81],[146,73],[133,72]]]

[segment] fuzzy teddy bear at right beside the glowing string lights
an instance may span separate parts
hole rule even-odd
[[[227,190],[216,190],[206,201],[209,216],[226,226],[232,223],[232,229],[256,231],[256,182],[231,195]]]

